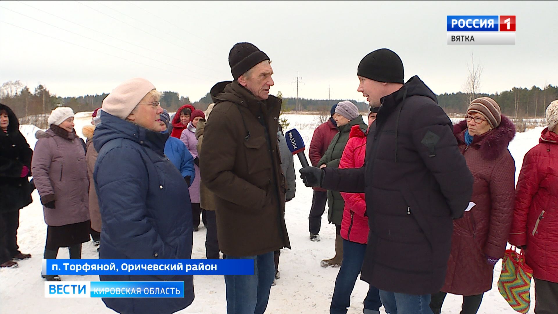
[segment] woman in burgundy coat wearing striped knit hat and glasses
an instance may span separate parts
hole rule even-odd
[[[477,313],[492,288],[494,265],[504,255],[513,217],[515,164],[508,144],[516,134],[494,99],[474,99],[465,121],[454,126],[461,154],[473,174],[470,210],[454,220],[444,287],[430,307],[441,311],[446,293],[463,296],[461,314]]]

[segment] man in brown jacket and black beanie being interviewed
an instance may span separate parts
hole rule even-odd
[[[215,106],[201,145],[201,180],[215,193],[219,249],[227,259],[254,260],[254,275],[225,275],[227,313],[266,310],[273,251],[290,248],[276,135],[281,99],[269,94],[270,63],[248,42],[233,46],[234,80],[211,88]]]

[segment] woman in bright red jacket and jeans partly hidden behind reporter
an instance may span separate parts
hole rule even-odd
[[[368,128],[376,120],[379,108],[371,108],[368,114]],[[364,165],[366,151],[365,131],[355,125],[350,130],[349,141],[343,150],[343,156],[339,161],[339,169],[360,168]],[[353,292],[354,283],[362,268],[364,252],[368,242],[368,217],[366,213],[366,202],[364,193],[344,193],[341,196],[345,200],[343,220],[341,221],[341,237],[343,238],[343,264],[339,269],[333,298],[331,298],[330,314],[347,313],[350,306],[350,294]],[[368,294],[364,298],[364,313],[379,314],[382,306],[378,289],[370,286]]]

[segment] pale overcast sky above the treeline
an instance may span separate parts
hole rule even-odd
[[[286,97],[296,95],[298,72],[301,98],[327,99],[331,87],[331,98],[363,100],[357,66],[382,47],[400,55],[405,80],[419,75],[435,93],[463,90],[471,53],[484,67],[483,92],[558,84],[555,1],[0,4],[0,81],[44,84],[58,96],[144,77],[197,101],[232,79],[228,54],[240,41],[270,56],[271,94]],[[516,45],[448,45],[447,15],[516,15]]]

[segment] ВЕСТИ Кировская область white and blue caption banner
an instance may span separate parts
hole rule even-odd
[[[45,298],[183,298],[182,281],[45,282]]]

